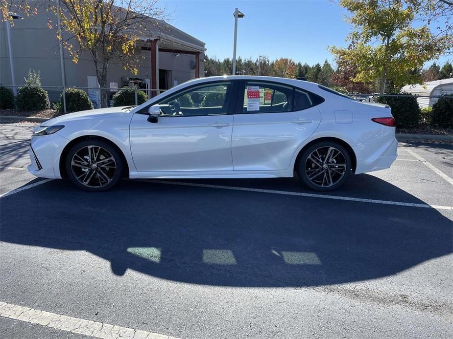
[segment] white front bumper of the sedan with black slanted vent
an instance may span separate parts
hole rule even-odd
[[[37,177],[60,179],[60,155],[68,142],[57,133],[32,137],[27,170]]]

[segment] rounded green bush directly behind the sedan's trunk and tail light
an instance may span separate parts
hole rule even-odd
[[[420,124],[422,112],[420,111],[420,106],[418,106],[415,96],[378,97],[378,102],[390,106],[392,115],[396,120],[396,127],[416,127]]]

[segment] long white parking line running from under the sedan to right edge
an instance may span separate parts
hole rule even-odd
[[[417,203],[409,203],[409,202],[400,202],[400,201],[363,199],[363,198],[353,198],[353,197],[349,197],[349,196],[338,196],[338,195],[327,195],[327,194],[316,194],[316,193],[303,193],[303,192],[292,192],[292,191],[264,190],[264,189],[253,189],[253,188],[248,188],[248,187],[236,187],[236,186],[196,184],[196,183],[187,183],[187,182],[181,182],[181,181],[137,180],[137,179],[129,179],[129,180],[131,180],[131,181],[148,182],[148,183],[151,182],[151,183],[156,183],[156,184],[208,187],[208,188],[221,189],[221,190],[250,191],[250,192],[261,192],[261,193],[272,193],[272,194],[296,195],[296,196],[304,196],[304,197],[310,197],[310,198],[334,199],[334,200],[345,200],[345,201],[355,201],[355,202],[368,202],[368,203],[373,203],[373,204],[396,205],[396,206],[406,206],[406,207],[433,208],[433,209],[436,209],[436,210],[451,210],[451,211],[453,211],[453,206],[438,206],[438,205],[429,205],[429,204],[417,204]]]

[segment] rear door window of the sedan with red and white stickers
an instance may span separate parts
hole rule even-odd
[[[290,86],[245,83],[242,113],[279,113],[292,110],[293,88]]]

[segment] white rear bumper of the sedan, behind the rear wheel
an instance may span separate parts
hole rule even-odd
[[[357,158],[356,174],[385,170],[393,164],[398,156],[398,141],[392,129],[353,148]]]

